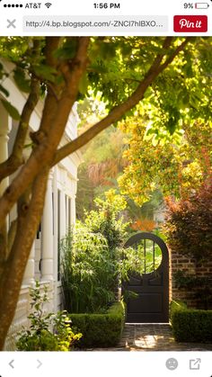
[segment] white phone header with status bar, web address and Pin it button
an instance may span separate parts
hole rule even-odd
[[[1,1],[1,35],[211,35],[211,1]]]

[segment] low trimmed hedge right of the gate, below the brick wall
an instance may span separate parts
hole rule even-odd
[[[172,301],[171,322],[176,341],[212,343],[212,310],[188,309],[183,302]]]

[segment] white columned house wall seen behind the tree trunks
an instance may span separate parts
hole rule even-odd
[[[9,66],[7,67],[7,70],[10,71]],[[22,112],[22,108],[26,101],[26,95],[19,92],[11,77],[4,81],[4,86],[10,93],[10,97],[7,100],[9,100],[19,112]],[[36,111],[33,112],[31,116],[31,130],[39,129],[41,113],[42,103],[39,103]],[[66,132],[61,140],[60,147],[65,145],[68,141],[76,138],[77,122],[78,115],[75,105],[67,122]],[[5,126],[6,124],[6,130],[3,129],[3,126],[0,127],[0,162],[4,161],[6,158],[5,153],[3,154],[3,139],[5,140],[5,138],[7,138],[9,125],[11,123],[12,121],[9,119],[8,114],[0,104],[0,126]],[[11,143],[13,143],[12,139],[14,139],[14,137],[15,134],[12,132]],[[4,149],[4,152],[7,152],[7,149],[8,148]],[[35,239],[33,247],[31,248],[31,256],[29,257],[28,265],[24,274],[20,299],[17,304],[13,324],[5,342],[5,350],[14,349],[15,334],[22,328],[22,326],[24,328],[28,326],[27,316],[31,309],[29,303],[29,287],[34,285],[36,279],[40,280],[41,284],[47,284],[49,286],[50,304],[48,310],[55,311],[61,309],[61,282],[57,279],[58,231],[61,238],[65,236],[66,230],[75,223],[77,167],[81,162],[82,158],[80,153],[75,152],[51,169],[44,206],[44,215],[41,221],[43,234],[42,232],[38,232],[38,238]],[[0,187],[0,190],[5,189],[7,184],[8,180],[4,181],[4,187]],[[60,191],[60,209],[57,206],[58,190]],[[68,212],[69,209],[71,209],[71,213]],[[14,219],[15,216],[16,210],[13,208],[11,219]],[[57,223],[58,216],[60,218],[59,228]]]

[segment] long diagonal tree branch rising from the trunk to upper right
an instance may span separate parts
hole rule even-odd
[[[158,54],[153,62],[152,66],[149,68],[148,72],[146,73],[145,78],[142,82],[137,86],[136,91],[131,94],[128,100],[124,103],[120,103],[118,106],[114,107],[109,115],[107,115],[102,121],[98,121],[96,124],[93,125],[92,128],[86,130],[82,135],[80,135],[75,140],[71,141],[70,143],[66,144],[66,146],[57,150],[56,157],[54,158],[52,166],[56,165],[59,161],[61,161],[66,156],[70,155],[71,153],[75,152],[78,148],[82,148],[87,142],[93,139],[94,136],[98,135],[102,130],[105,130],[110,124],[114,123],[115,121],[119,121],[119,119],[130,109],[132,109],[137,103],[139,103],[145,95],[146,89],[149,85],[153,83],[155,78],[163,72],[163,70],[172,63],[173,59],[185,48],[185,46],[189,42],[189,38],[184,40],[181,45],[176,48],[172,55],[165,60],[163,64],[162,60],[165,56],[165,53]],[[163,49],[169,49],[172,44],[172,37],[167,37],[163,42]]]

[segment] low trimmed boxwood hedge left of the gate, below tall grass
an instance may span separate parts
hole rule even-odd
[[[70,318],[73,328],[83,334],[78,347],[116,346],[125,323],[125,307],[120,301],[112,304],[105,314],[70,314]]]

